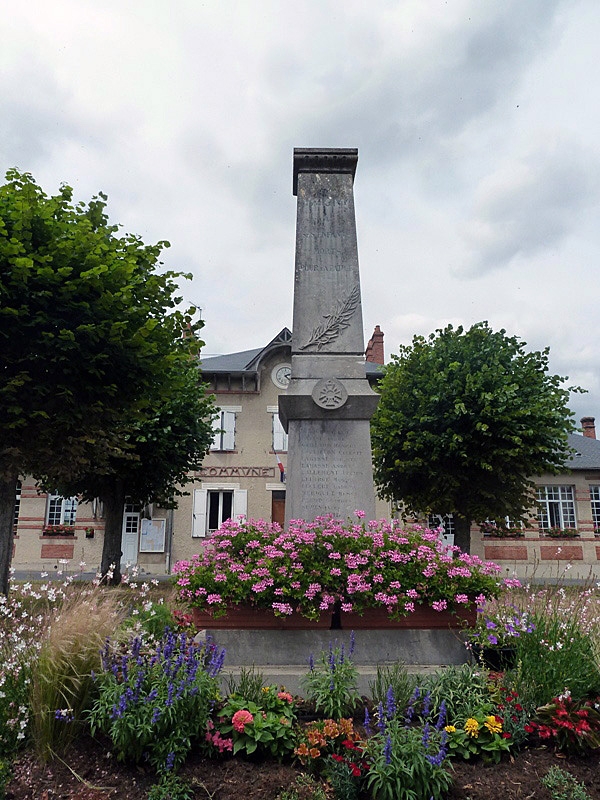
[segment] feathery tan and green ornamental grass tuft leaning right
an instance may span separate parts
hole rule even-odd
[[[84,725],[100,668],[100,650],[124,617],[118,595],[98,586],[72,584],[47,618],[46,633],[32,669],[32,735],[39,757],[63,753]]]

